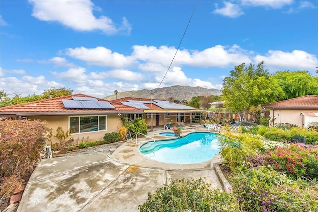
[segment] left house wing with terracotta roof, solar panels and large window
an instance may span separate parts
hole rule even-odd
[[[52,143],[56,129],[66,132],[74,127],[71,135],[76,142],[103,140],[106,132],[117,132],[122,125],[121,117],[128,114],[140,115],[143,110],[95,98],[84,94],[74,94],[51,99],[43,99],[0,108],[1,118],[46,120],[52,128]]]

